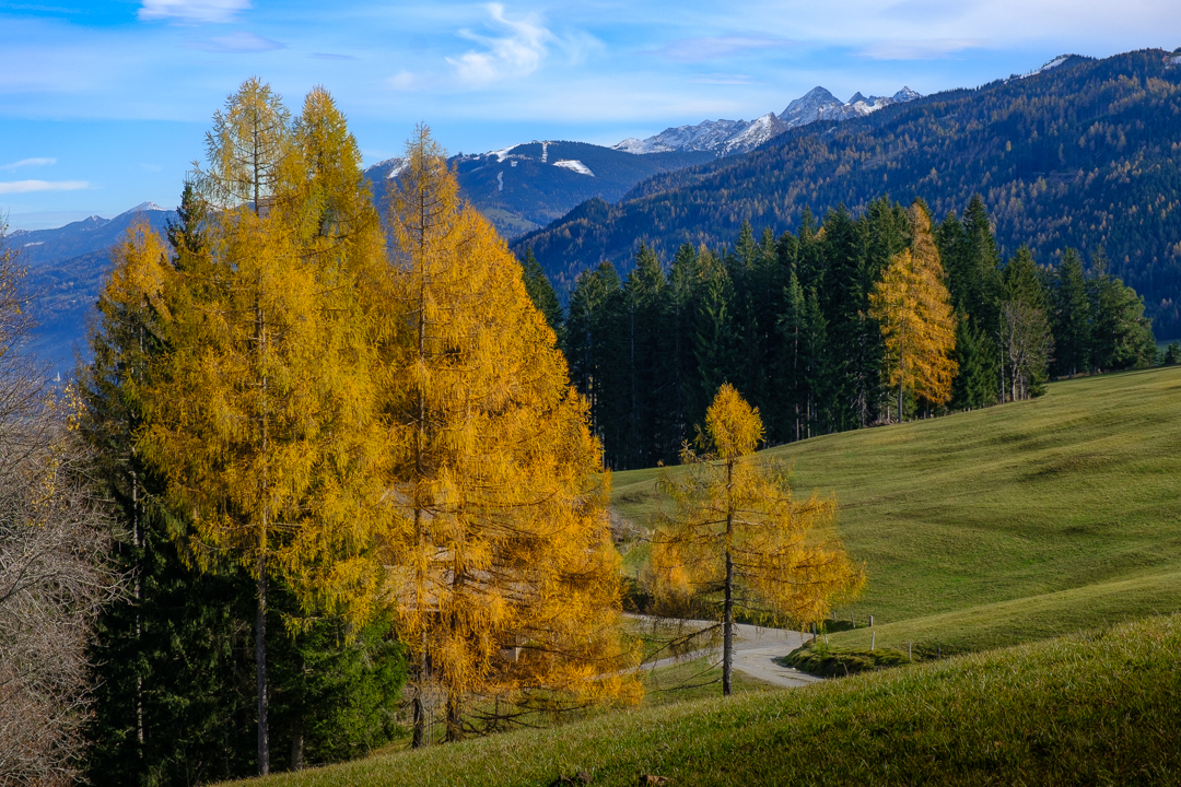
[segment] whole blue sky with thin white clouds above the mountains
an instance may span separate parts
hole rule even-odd
[[[326,86],[368,164],[420,120],[451,152],[614,144],[816,85],[926,94],[1176,46],[1177,0],[0,0],[0,215],[35,229],[174,206],[250,76],[293,110]]]

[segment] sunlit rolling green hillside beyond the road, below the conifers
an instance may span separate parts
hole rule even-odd
[[[1181,368],[770,453],[797,493],[836,496],[869,570],[837,614],[874,615],[877,647],[980,650],[1181,609]],[[655,472],[614,476],[619,513],[644,520]],[[830,643],[868,648],[869,632]]]

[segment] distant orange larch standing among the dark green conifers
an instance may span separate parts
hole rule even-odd
[[[869,294],[869,316],[877,321],[886,345],[889,385],[898,389],[899,422],[906,391],[944,405],[951,400],[959,368],[951,358],[955,317],[931,218],[918,203],[911,206],[909,216],[911,248],[890,257]]]

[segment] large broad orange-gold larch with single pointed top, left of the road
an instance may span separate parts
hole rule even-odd
[[[424,126],[389,224],[391,583],[415,660],[415,745],[430,696],[457,740],[494,703],[556,710],[634,691],[586,404],[520,263],[461,201]]]

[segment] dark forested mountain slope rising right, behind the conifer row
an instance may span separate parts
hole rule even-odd
[[[1146,50],[1071,57],[1024,79],[957,90],[841,124],[816,123],[746,156],[653,177],[611,205],[590,201],[516,243],[559,289],[640,242],[667,261],[683,243],[718,245],[743,221],[776,232],[805,206],[863,211],[882,195],[922,197],[935,217],[983,195],[1003,255],[1039,263],[1065,247],[1144,296],[1159,336],[1181,335],[1181,57]]]

